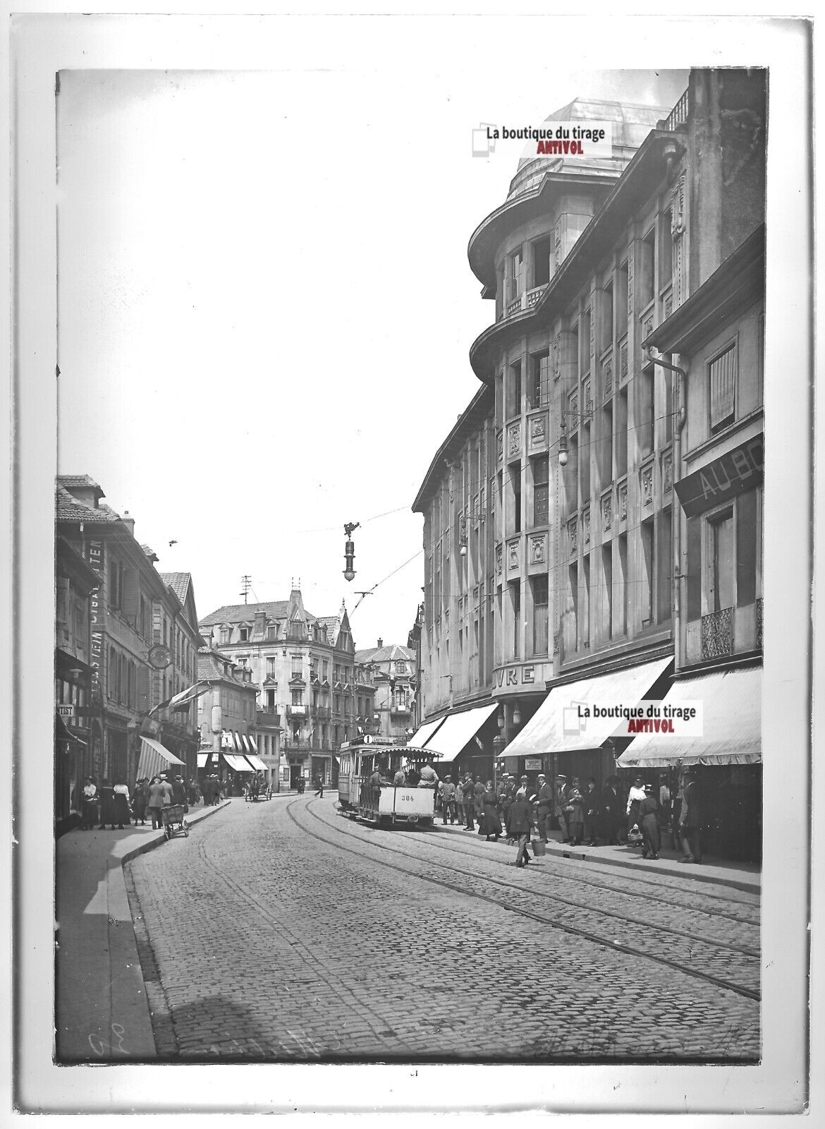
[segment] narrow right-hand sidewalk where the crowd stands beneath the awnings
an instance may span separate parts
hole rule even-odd
[[[447,824],[445,826],[437,816],[435,826],[439,831],[453,831],[466,834],[458,824]],[[477,824],[476,824],[477,831]],[[476,834],[476,832],[472,832]],[[481,840],[484,842],[484,839]],[[495,846],[501,849],[504,842],[502,837]],[[757,863],[732,863],[723,858],[713,858],[705,855],[701,863],[681,863],[681,856],[673,849],[662,847],[658,859],[642,858],[641,848],[631,847],[570,847],[559,839],[553,839],[547,843],[545,858],[568,858],[571,861],[597,863],[600,866],[622,866],[632,870],[650,870],[653,874],[666,874],[675,881],[691,878],[693,882],[712,882],[719,886],[730,886],[734,890],[743,890],[746,893],[758,894],[762,891],[762,868]],[[538,858],[541,863],[541,856]]]

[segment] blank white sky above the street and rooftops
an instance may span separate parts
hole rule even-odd
[[[563,72],[524,37],[508,69],[475,34],[458,50],[387,20],[346,51],[296,33],[271,71],[61,73],[59,473],[91,475],[161,571],[192,574],[200,616],[247,575],[251,602],[293,583],[315,615],[345,598],[359,648],[406,642],[412,502],[494,317],[467,242],[523,151],[473,157],[472,130],[577,96],[669,107],[687,85]]]

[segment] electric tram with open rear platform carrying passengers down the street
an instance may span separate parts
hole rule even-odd
[[[433,764],[438,771],[440,755],[375,737],[343,744],[339,765],[341,813],[376,826],[430,826],[436,789],[416,786],[424,764]],[[370,779],[376,769],[380,773],[380,786]],[[404,771],[403,785],[394,782],[398,769]]]

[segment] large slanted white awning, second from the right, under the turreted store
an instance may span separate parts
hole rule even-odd
[[[499,755],[538,756],[598,749],[615,732],[616,720],[587,718],[579,721],[578,707],[635,704],[672,662],[670,657],[658,658],[653,663],[640,663],[612,674],[554,686],[521,733]]]

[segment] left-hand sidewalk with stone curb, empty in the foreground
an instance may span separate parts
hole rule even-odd
[[[190,825],[216,807],[193,807]],[[55,1027],[61,1062],[153,1059],[123,865],[165,842],[151,824],[70,831],[55,843]]]

